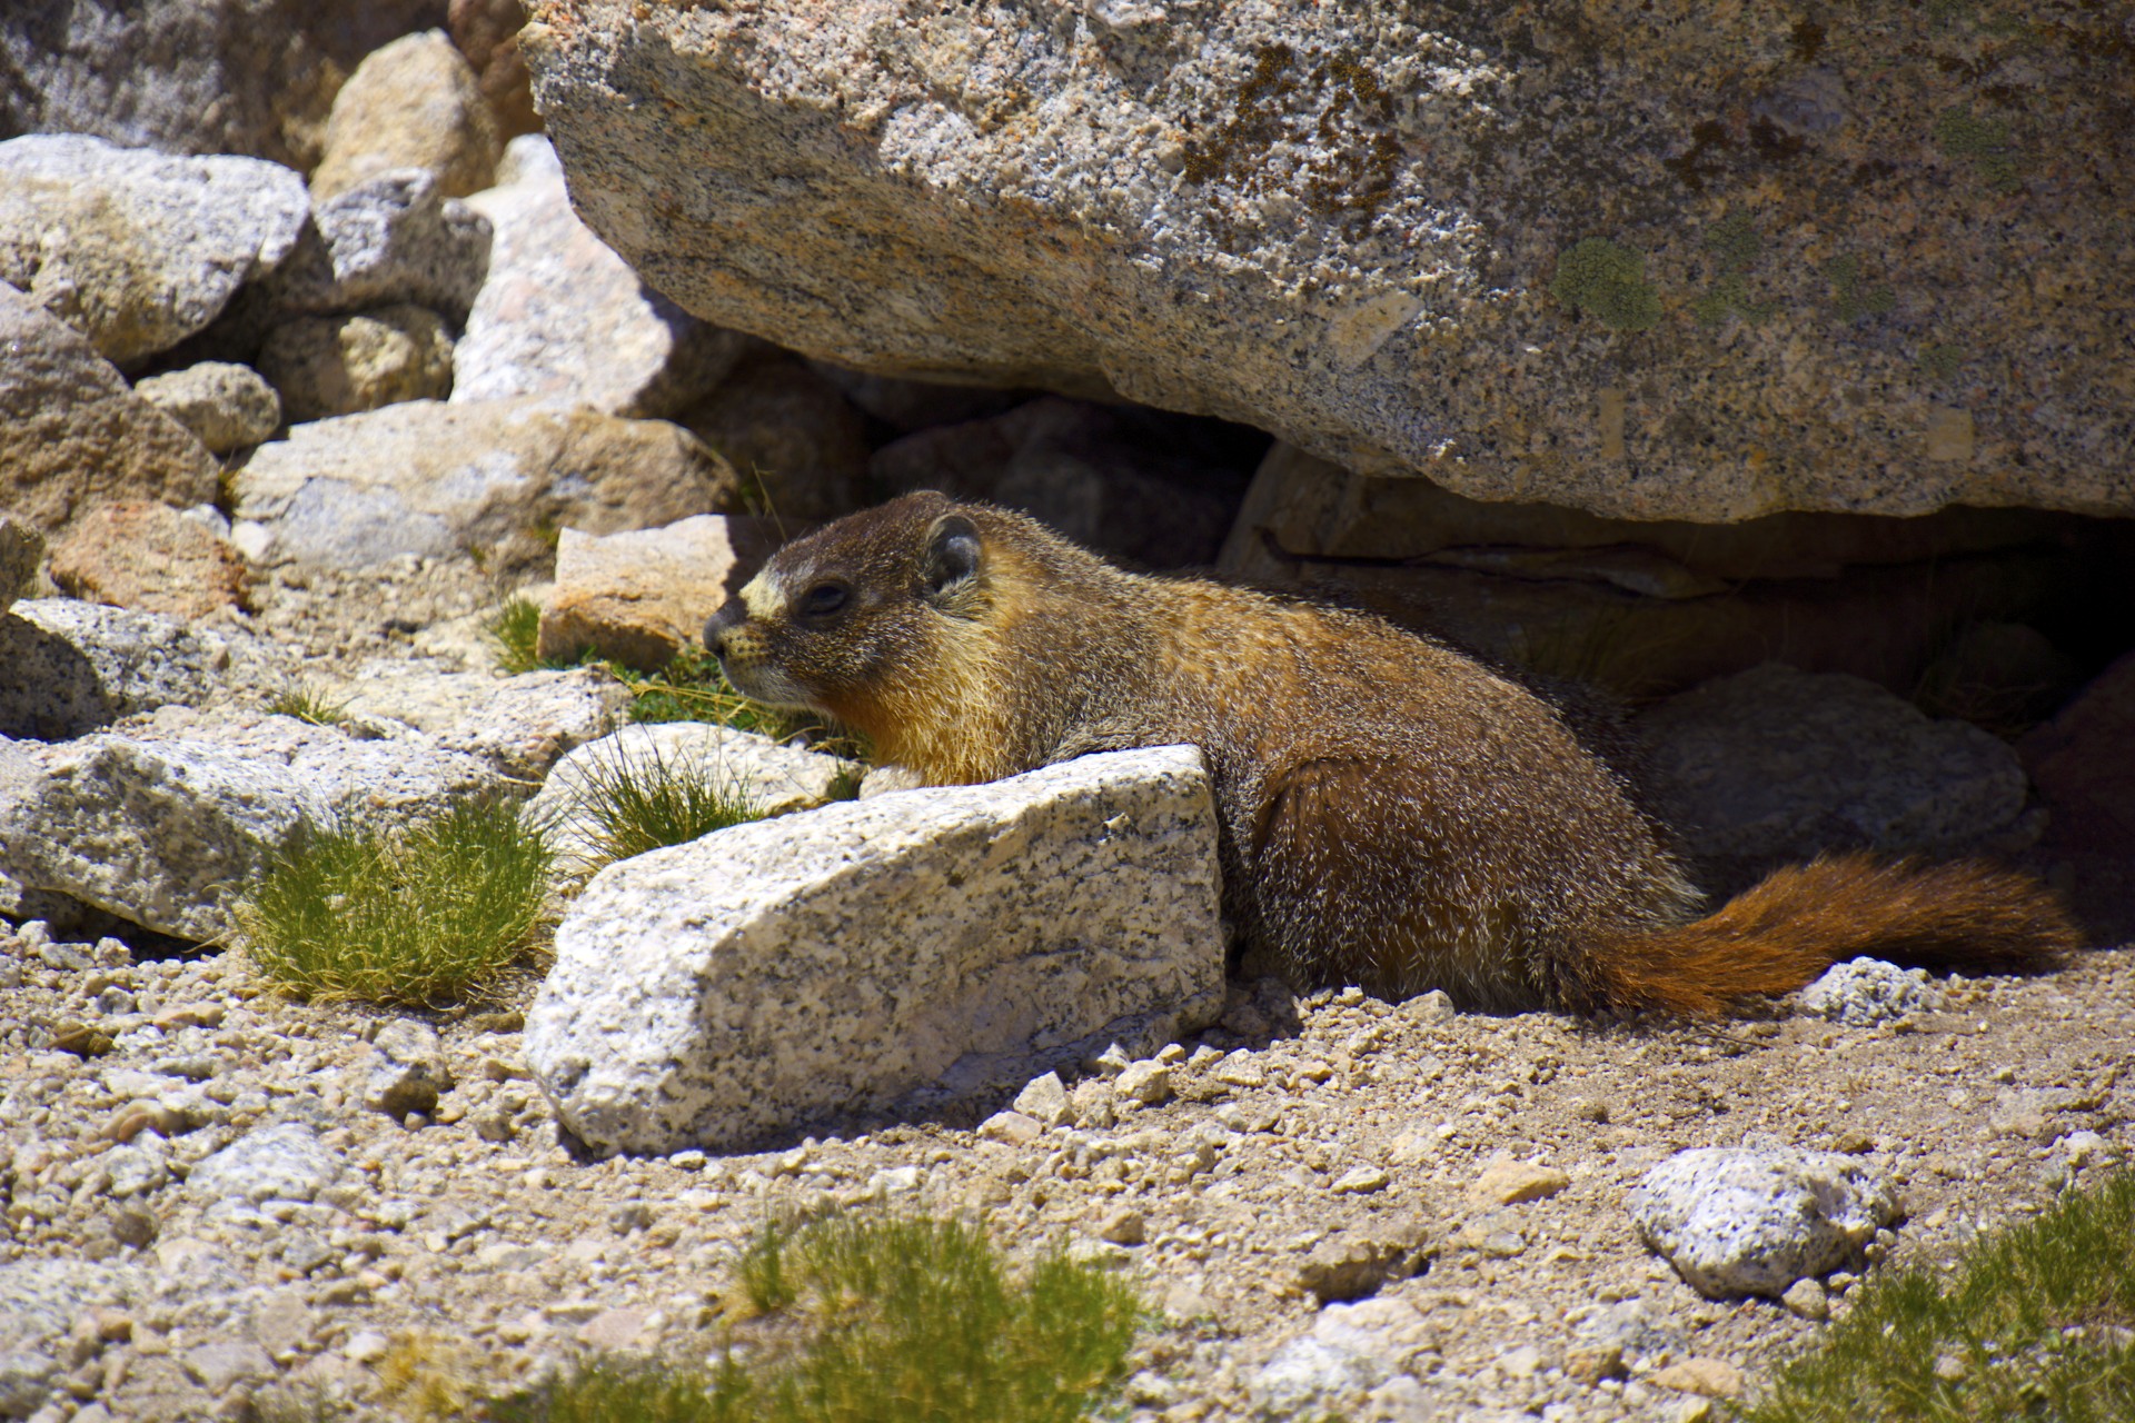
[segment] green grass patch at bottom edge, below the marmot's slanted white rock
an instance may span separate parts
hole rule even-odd
[[[743,1259],[769,1331],[801,1342],[711,1372],[596,1363],[504,1423],[1074,1423],[1110,1402],[1142,1323],[1134,1291],[1061,1254],[1012,1278],[976,1225],[828,1218]]]

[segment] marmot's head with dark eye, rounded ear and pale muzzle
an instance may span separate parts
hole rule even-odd
[[[758,702],[809,706],[882,738],[939,698],[946,661],[984,617],[991,510],[916,493],[779,548],[705,623],[726,678]]]

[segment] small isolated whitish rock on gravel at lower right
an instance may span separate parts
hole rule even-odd
[[[1776,1299],[1855,1261],[1900,1218],[1872,1165],[1838,1152],[1702,1146],[1646,1171],[1625,1205],[1640,1237],[1708,1299]]]

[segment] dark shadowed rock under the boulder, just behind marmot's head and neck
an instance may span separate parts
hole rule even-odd
[[[1258,439],[1155,410],[1046,397],[991,420],[884,446],[877,484],[1006,503],[1136,563],[1211,563],[1223,546]]]

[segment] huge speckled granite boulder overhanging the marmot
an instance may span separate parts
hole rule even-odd
[[[521,51],[587,224],[811,356],[1110,386],[1631,518],[2135,512],[2109,9],[542,21]]]

